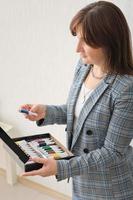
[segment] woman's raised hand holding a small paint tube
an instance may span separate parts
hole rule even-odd
[[[21,109],[26,109],[28,111],[36,113],[36,115],[24,114],[25,118],[29,119],[30,121],[38,121],[45,118],[46,116],[46,106],[42,104],[24,104],[20,106],[19,110]]]

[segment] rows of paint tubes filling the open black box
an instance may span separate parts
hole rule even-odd
[[[47,136],[47,137],[46,137]],[[66,150],[50,135],[42,138],[25,138],[15,142],[29,157],[61,159],[68,157]],[[58,144],[57,144],[58,143]]]

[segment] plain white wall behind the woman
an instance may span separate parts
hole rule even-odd
[[[24,103],[66,101],[78,58],[69,23],[76,11],[89,2],[92,1],[0,0],[0,121],[13,125],[15,135],[49,131],[65,144],[64,126],[38,128],[25,120],[18,108]],[[133,31],[133,2],[113,2],[123,10]],[[66,181],[31,179],[71,193],[71,184]]]

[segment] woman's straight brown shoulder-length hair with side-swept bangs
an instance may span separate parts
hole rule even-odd
[[[106,1],[87,5],[73,17],[70,24],[72,35],[76,35],[79,27],[86,44],[105,50],[107,71],[133,74],[130,30],[116,5]]]

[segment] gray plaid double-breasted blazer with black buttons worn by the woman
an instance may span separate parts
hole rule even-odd
[[[75,157],[57,161],[57,180],[72,177],[74,200],[133,200],[133,76],[105,77],[73,131],[76,100],[89,70],[79,61],[67,103],[48,105],[40,124],[67,124],[68,148]]]

